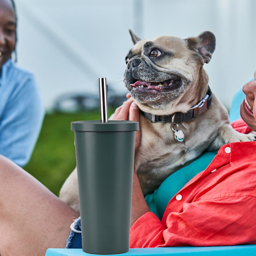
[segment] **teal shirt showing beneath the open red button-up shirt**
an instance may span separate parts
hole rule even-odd
[[[152,194],[148,194],[145,200],[151,212],[161,220],[169,201],[199,172],[204,171],[212,162],[218,151],[205,152],[201,157],[187,166],[177,170],[156,189]]]

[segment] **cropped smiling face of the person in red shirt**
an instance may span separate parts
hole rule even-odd
[[[244,84],[243,92],[245,99],[240,106],[240,115],[244,122],[256,131],[256,71],[254,72],[254,80]]]

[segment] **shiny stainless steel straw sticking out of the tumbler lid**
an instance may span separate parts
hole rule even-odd
[[[105,78],[99,78],[99,101],[101,122],[108,122],[108,92]]]

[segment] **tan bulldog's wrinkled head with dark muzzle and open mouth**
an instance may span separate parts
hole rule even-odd
[[[134,47],[126,56],[124,83],[139,107],[146,110],[177,104],[198,84],[199,71],[215,49],[212,32],[195,38],[160,36],[150,40],[130,33]]]

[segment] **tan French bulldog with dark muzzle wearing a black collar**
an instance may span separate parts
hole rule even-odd
[[[233,130],[226,108],[209,88],[203,66],[215,50],[212,32],[186,39],[163,35],[142,40],[130,34],[134,47],[125,58],[123,80],[141,111],[134,166],[144,195],[206,150],[255,140]],[[76,170],[60,198],[79,210]]]

